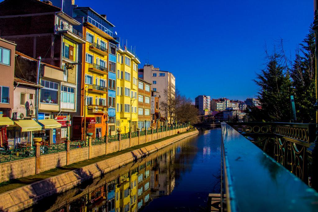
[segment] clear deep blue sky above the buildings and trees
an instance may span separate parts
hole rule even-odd
[[[255,96],[252,82],[264,63],[264,44],[283,38],[295,48],[313,21],[308,0],[75,0],[116,26],[135,46],[142,67],[149,63],[172,72],[176,87],[194,99]]]

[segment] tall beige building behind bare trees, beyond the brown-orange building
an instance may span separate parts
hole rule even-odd
[[[150,83],[151,90],[155,91],[154,96],[160,96],[160,116],[168,119],[170,122],[170,117],[165,108],[162,107],[161,102],[166,102],[168,96],[175,98],[176,96],[176,78],[168,71],[162,71],[159,68],[155,68],[153,65],[144,65],[143,68],[138,69],[138,77],[144,79]],[[167,91],[167,92],[165,92]],[[173,123],[175,120],[171,120]]]

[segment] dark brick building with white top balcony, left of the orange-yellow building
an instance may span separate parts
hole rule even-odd
[[[70,129],[65,122],[77,111],[77,76],[81,62],[79,46],[86,43],[83,34],[75,29],[80,23],[50,1],[25,0],[19,7],[16,3],[13,0],[0,3],[1,34],[17,43],[17,51],[31,58],[40,56],[46,64],[62,70],[62,79],[58,82],[61,88],[59,117],[51,118],[62,124],[61,134],[66,138]]]

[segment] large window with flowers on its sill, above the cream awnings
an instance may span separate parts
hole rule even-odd
[[[43,85],[44,88],[41,88],[40,102],[47,104],[57,104],[58,84],[41,79],[41,85]]]

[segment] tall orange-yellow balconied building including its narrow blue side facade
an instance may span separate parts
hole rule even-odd
[[[110,131],[114,133],[115,110],[108,109],[115,106],[116,46],[114,42],[117,41],[113,38],[114,25],[106,19],[106,15],[100,15],[89,7],[69,6],[74,7],[73,17],[81,24],[77,29],[86,38],[86,43],[80,49],[82,72],[78,75],[80,85],[78,115],[82,117],[82,120],[77,123],[85,129],[81,130],[82,133],[77,133],[81,136],[77,136],[76,139],[83,138],[88,131],[93,133],[93,137],[101,137],[109,134]],[[113,119],[110,119],[109,115]],[[84,117],[89,121],[83,125]],[[95,120],[95,123],[92,123],[92,120]],[[108,127],[110,122],[113,127]],[[73,138],[75,139],[74,136]]]

